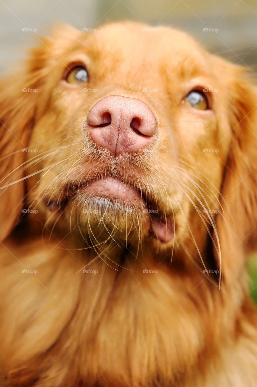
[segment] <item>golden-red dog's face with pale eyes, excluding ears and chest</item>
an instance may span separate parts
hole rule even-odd
[[[77,245],[175,246],[191,257],[209,235],[220,255],[221,188],[255,114],[241,70],[184,33],[128,23],[57,33],[28,73],[38,92],[23,171],[42,227],[71,231]]]

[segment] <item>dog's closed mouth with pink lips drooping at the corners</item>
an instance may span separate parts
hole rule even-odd
[[[134,212],[142,216],[149,217],[151,232],[158,240],[163,243],[169,243],[174,238],[174,216],[169,216],[159,211],[156,202],[150,200],[144,192],[137,188],[123,183],[121,180],[112,177],[100,178],[92,182],[80,182],[78,184],[69,183],[58,201],[47,201],[48,209],[52,212],[68,204],[74,197],[81,197],[81,201],[92,200],[95,204],[98,201],[104,211],[110,204],[113,211],[115,208],[126,212]],[[94,207],[95,208],[95,207]],[[94,211],[94,209],[87,211]]]

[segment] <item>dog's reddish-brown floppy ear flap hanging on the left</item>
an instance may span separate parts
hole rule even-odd
[[[22,214],[24,163],[36,108],[40,106],[44,51],[42,47],[33,48],[24,70],[0,81],[0,240]]]

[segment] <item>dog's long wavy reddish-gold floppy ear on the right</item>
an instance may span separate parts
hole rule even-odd
[[[257,240],[257,89],[245,70],[236,68],[233,72],[230,100],[225,101],[230,110],[232,140],[221,186],[224,212],[215,219],[222,279],[227,285],[242,274],[244,258],[257,247],[253,243]]]

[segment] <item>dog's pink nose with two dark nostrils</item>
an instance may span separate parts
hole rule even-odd
[[[115,156],[149,146],[157,132],[149,107],[138,99],[122,96],[101,99],[91,108],[86,122],[93,142],[110,149]]]

